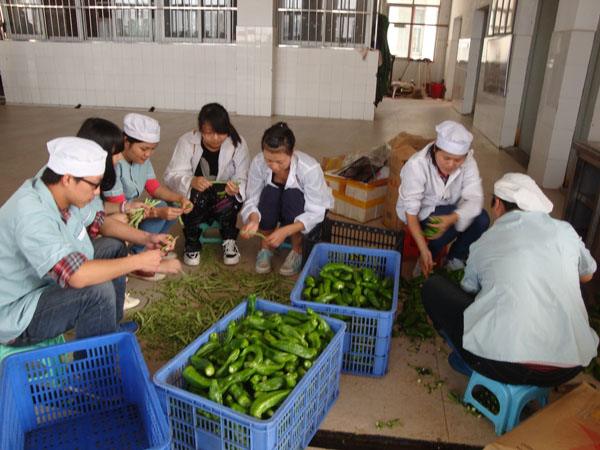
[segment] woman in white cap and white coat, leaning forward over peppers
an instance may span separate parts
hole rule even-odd
[[[451,120],[435,130],[436,140],[411,156],[400,171],[396,212],[419,247],[415,276],[431,273],[433,261],[452,241],[445,266],[449,270],[464,268],[469,246],[490,224],[471,149],[473,135]],[[425,228],[437,230],[429,236],[429,243],[423,236]]]

